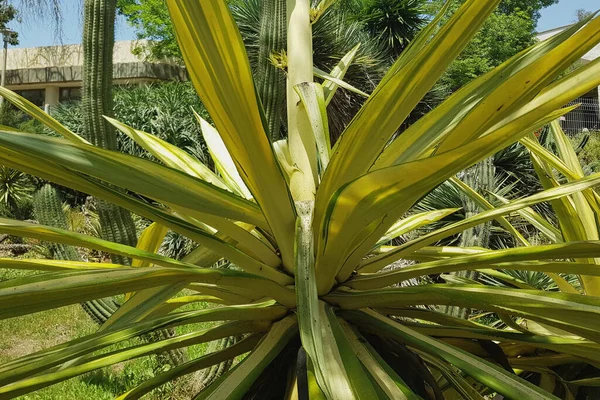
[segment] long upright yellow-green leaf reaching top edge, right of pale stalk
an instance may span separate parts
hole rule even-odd
[[[366,173],[392,135],[475,35],[499,0],[467,1],[411,60],[396,61],[337,142],[317,193],[315,224],[331,196]]]

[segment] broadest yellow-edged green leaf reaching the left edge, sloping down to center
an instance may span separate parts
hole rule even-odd
[[[256,204],[203,180],[137,157],[25,133],[0,132],[0,147],[38,156],[167,205],[202,207],[208,214],[265,226]]]

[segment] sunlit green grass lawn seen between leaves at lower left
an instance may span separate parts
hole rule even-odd
[[[0,282],[29,274],[30,272],[0,270]],[[204,308],[201,303],[186,309]],[[178,334],[195,329],[208,327],[206,324],[184,326],[178,329]],[[97,325],[83,311],[81,306],[72,305],[55,310],[39,312],[0,322],[0,363],[17,357],[63,343],[70,339],[93,333]],[[141,343],[140,339],[129,341],[128,345]],[[195,358],[202,355],[206,344],[192,346],[188,356]],[[144,380],[160,372],[155,357],[145,357],[125,363],[103,368],[80,377],[58,383],[54,386],[39,390],[19,399],[36,400],[104,400],[114,399]],[[173,387],[165,385],[158,388],[145,398],[184,399],[189,398],[178,394]]]

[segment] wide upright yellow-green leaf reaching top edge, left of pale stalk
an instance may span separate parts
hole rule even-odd
[[[246,49],[229,5],[224,0],[168,0],[167,6],[190,79],[291,270],[294,207],[263,126]]]

